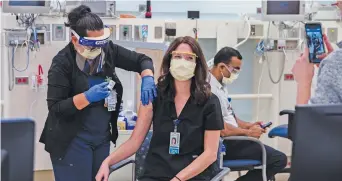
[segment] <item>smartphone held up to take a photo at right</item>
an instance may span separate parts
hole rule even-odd
[[[309,48],[310,63],[321,63],[317,55],[325,53],[323,42],[322,24],[319,22],[305,24],[306,44]]]

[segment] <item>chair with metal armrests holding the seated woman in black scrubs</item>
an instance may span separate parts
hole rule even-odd
[[[135,154],[135,159],[126,159],[123,160],[113,166],[110,167],[110,173],[119,170],[120,168],[132,164],[132,181],[138,181],[142,173],[144,172],[144,161],[148,153],[148,149],[150,146],[150,142],[152,139],[152,131],[150,131],[147,135],[146,138],[141,145],[140,149],[137,151]],[[220,148],[217,156],[217,161],[214,163],[214,173],[212,173],[213,178],[211,181],[220,181],[224,178],[224,176],[228,175],[230,172],[229,168],[222,168],[222,155],[221,153],[224,152],[222,151],[223,148],[223,143],[222,140],[220,140]]]

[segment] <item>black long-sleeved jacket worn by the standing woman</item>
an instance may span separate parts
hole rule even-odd
[[[118,104],[116,111],[111,112],[110,117],[110,140],[115,144],[118,137],[116,124],[118,110],[123,93],[123,87],[115,73],[115,68],[141,73],[146,69],[153,71],[153,63],[150,57],[130,51],[112,41],[102,50],[105,53],[105,63],[100,74],[103,78],[110,77],[116,82],[114,89],[117,91]],[[85,119],[83,119],[87,115],[85,112],[97,104],[102,111],[105,111],[104,100],[92,103],[82,110],[76,108],[73,97],[84,93],[89,87],[88,77],[78,68],[76,51],[70,42],[53,58],[48,73],[47,104],[49,114],[39,141],[45,144],[45,150],[52,156],[59,158],[65,156],[72,140],[85,127]]]

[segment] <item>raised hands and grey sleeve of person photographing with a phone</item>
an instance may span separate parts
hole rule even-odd
[[[342,103],[342,49],[334,51],[326,35],[323,41],[327,54],[321,55],[315,94],[311,96],[314,64],[309,62],[309,50],[297,59],[292,73],[297,82],[297,104],[341,104]],[[329,55],[328,55],[329,54]]]

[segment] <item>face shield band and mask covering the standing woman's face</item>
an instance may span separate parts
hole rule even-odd
[[[75,47],[76,51],[87,59],[94,59],[102,52],[102,48],[107,45],[110,36],[110,29],[104,28],[104,33],[100,37],[80,37],[74,30],[71,33],[77,38],[80,47]]]

